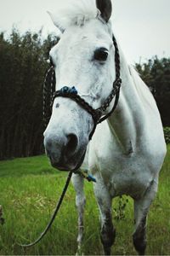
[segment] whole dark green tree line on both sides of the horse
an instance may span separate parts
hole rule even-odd
[[[43,153],[42,84],[52,35],[14,29],[0,33],[0,160]],[[152,91],[163,125],[170,126],[170,59],[157,57],[136,64]]]

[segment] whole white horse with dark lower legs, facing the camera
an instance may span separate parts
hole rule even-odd
[[[116,79],[111,0],[72,1],[70,6],[50,16],[62,32],[59,43],[50,51],[56,90],[64,85],[75,86],[79,96],[94,109],[99,108],[110,95]],[[116,235],[111,201],[124,194],[133,198],[133,245],[139,254],[144,254],[146,217],[156,196],[166,144],[150,90],[133,67],[127,65],[119,45],[118,49],[122,86],[115,112],[97,125],[89,143],[94,129],[92,115],[70,98],[58,96],[44,132],[44,146],[51,164],[59,170],[75,170],[82,164],[81,169],[88,169],[94,175],[105,254],[111,253]],[[103,115],[111,111],[114,102],[115,97]],[[72,183],[77,192],[77,241],[81,245],[85,205],[83,177],[73,174]]]

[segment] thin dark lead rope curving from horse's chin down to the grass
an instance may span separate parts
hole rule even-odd
[[[45,230],[43,230],[43,232],[42,232],[41,235],[37,238],[37,240],[35,240],[35,241],[33,241],[33,242],[29,243],[29,244],[19,244],[20,247],[32,247],[32,246],[34,246],[35,244],[37,244],[38,241],[41,241],[41,240],[42,240],[42,237],[46,235],[46,233],[47,233],[48,230],[50,229],[51,225],[53,224],[54,219],[55,219],[57,213],[59,212],[59,208],[60,208],[61,203],[62,203],[62,201],[63,201],[63,199],[64,199],[64,197],[65,197],[66,190],[68,189],[69,183],[70,183],[70,181],[71,181],[71,176],[72,176],[72,172],[69,172],[69,175],[68,175],[68,177],[67,177],[67,179],[66,179],[66,182],[65,182],[65,187],[64,187],[64,189],[63,189],[63,192],[62,192],[62,194],[61,194],[61,196],[60,196],[60,198],[59,198],[59,201],[58,201],[58,203],[57,203],[57,205],[56,205],[56,207],[55,207],[54,213],[53,213],[53,215],[52,215],[52,217],[51,217],[51,219],[50,219],[50,221],[49,221],[47,227],[45,228]]]

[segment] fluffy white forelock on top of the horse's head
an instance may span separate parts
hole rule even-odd
[[[98,15],[95,0],[63,0],[54,11],[53,20],[56,26],[65,30],[68,26],[83,26]]]

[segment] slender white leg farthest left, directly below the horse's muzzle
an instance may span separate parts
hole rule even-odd
[[[78,212],[78,236],[77,236],[77,244],[78,244],[78,252],[81,252],[82,238],[83,238],[83,213],[84,207],[86,204],[86,198],[83,191],[84,179],[79,174],[73,174],[71,177],[71,182],[76,190],[76,206]]]

